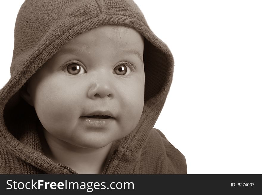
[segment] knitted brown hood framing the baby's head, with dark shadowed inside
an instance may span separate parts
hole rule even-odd
[[[166,44],[150,30],[138,6],[131,0],[26,0],[15,23],[11,78],[0,91],[0,141],[13,156],[46,172],[67,173],[43,155],[35,132],[37,115],[19,91],[68,41],[104,25],[128,26],[145,38],[143,113],[135,129],[121,140],[115,155],[131,161],[132,154],[143,146],[166,100],[174,60]]]

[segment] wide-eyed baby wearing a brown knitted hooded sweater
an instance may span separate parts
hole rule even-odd
[[[1,89],[1,174],[186,174],[153,126],[173,58],[130,0],[26,0]]]

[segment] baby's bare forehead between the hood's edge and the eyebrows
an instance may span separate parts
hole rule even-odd
[[[57,52],[57,55],[125,52],[142,58],[143,50],[144,37],[136,30],[126,26],[107,25],[73,38]]]

